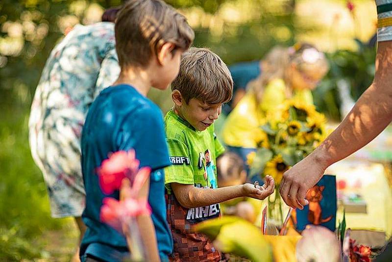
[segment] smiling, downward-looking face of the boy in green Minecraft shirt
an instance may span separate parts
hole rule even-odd
[[[208,105],[201,100],[192,98],[188,104],[182,101],[181,113],[196,130],[204,131],[218,119],[222,104]]]

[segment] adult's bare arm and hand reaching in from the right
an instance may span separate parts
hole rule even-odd
[[[308,157],[283,175],[280,194],[287,205],[302,209],[306,192],[331,164],[348,157],[383,131],[392,121],[392,41],[379,42],[376,72],[339,127]]]

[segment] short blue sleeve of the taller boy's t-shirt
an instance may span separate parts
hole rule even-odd
[[[119,150],[135,150],[140,166],[149,166],[154,171],[170,165],[163,118],[158,107],[142,105],[127,114],[116,140]]]

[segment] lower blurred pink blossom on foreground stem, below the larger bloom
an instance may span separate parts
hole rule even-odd
[[[120,233],[123,233],[123,223],[131,217],[151,214],[151,208],[146,200],[128,198],[118,201],[112,197],[106,197],[102,203],[100,220]]]

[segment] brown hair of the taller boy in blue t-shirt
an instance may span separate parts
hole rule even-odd
[[[116,51],[121,68],[146,67],[165,43],[187,50],[195,33],[186,18],[162,0],[128,0],[115,26]]]

